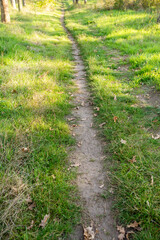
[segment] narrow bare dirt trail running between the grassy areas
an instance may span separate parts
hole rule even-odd
[[[80,57],[80,50],[65,27],[64,10],[62,10],[61,23],[71,43],[75,61],[75,82],[78,88],[75,94],[73,118],[78,119],[78,125],[73,128],[77,146],[71,153],[71,163],[78,166],[77,185],[80,192],[83,211],[83,225],[92,226],[97,240],[116,240],[116,223],[111,211],[111,202],[102,198],[107,189],[106,173],[104,172],[104,143],[96,136],[97,131],[93,125],[93,110],[90,106],[90,93],[86,83],[86,72]],[[73,233],[72,240],[83,239]]]

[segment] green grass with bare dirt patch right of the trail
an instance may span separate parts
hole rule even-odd
[[[86,64],[97,125],[111,153],[118,223],[141,222],[134,239],[160,239],[160,108],[139,102],[141,85],[160,89],[160,25],[147,12],[66,4],[66,24]],[[108,159],[109,161],[109,159]],[[106,162],[107,165],[107,162]],[[106,192],[103,197],[108,197]]]

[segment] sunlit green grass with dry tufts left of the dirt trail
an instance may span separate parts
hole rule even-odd
[[[11,24],[0,23],[2,239],[57,240],[79,218],[66,151],[74,144],[65,120],[73,62],[60,15],[59,5],[50,12],[27,8],[12,10]],[[36,205],[32,210],[28,198]]]

